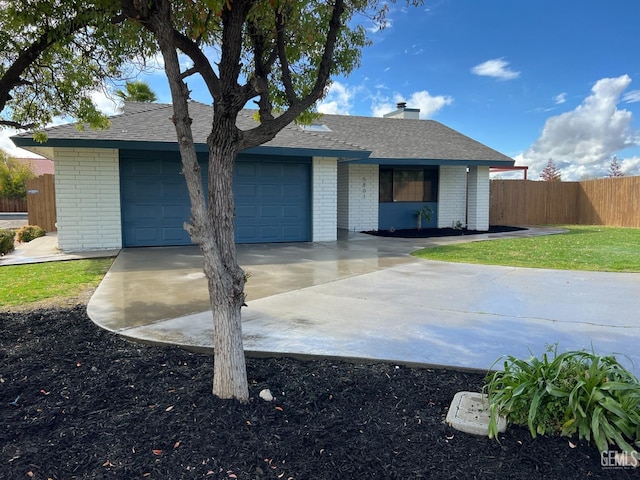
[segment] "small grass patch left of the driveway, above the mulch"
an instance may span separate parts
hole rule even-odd
[[[95,288],[112,263],[100,258],[1,267],[0,308],[78,297]]]

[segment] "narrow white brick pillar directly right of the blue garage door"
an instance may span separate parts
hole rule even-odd
[[[338,159],[314,157],[312,164],[312,241],[338,239]]]

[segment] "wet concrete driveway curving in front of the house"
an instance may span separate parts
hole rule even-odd
[[[240,245],[251,273],[244,346],[254,353],[374,358],[487,369],[502,355],[616,353],[640,373],[640,274],[451,264],[416,248],[557,233]],[[498,243],[496,244],[498,247]],[[97,324],[135,339],[212,348],[196,247],[125,249],[91,299]]]

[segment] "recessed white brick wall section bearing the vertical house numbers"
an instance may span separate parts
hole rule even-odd
[[[338,228],[378,229],[378,165],[338,165]]]

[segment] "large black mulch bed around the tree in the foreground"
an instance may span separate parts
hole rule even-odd
[[[251,401],[210,394],[211,359],[129,343],[84,307],[0,313],[2,479],[637,478],[596,449],[500,443],[444,423],[478,373],[249,359]],[[268,403],[258,398],[270,388]]]

